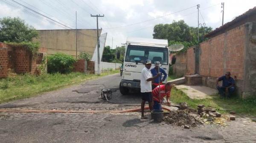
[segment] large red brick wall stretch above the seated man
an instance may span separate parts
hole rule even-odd
[[[200,75],[219,77],[230,71],[243,79],[244,25],[200,44]]]

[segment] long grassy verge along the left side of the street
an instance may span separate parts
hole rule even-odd
[[[20,98],[28,98],[39,93],[56,90],[72,84],[78,84],[84,80],[95,79],[118,72],[119,70],[108,71],[102,73],[100,76],[84,73],[56,73],[42,76],[25,74],[0,79],[0,103]]]

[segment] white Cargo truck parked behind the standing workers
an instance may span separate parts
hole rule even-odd
[[[122,80],[119,84],[119,90],[123,95],[129,93],[129,90],[140,90],[141,70],[145,67],[144,61],[147,59],[152,62],[151,68],[154,68],[154,62],[160,62],[161,67],[168,74],[168,41],[165,39],[128,37],[125,46]]]

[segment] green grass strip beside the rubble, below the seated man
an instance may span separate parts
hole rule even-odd
[[[187,102],[189,107],[197,108],[198,104],[204,104],[205,107],[216,107],[218,112],[229,113],[230,110],[236,111],[239,115],[253,115],[256,116],[256,98],[241,99],[221,99],[219,97],[205,98],[205,99],[190,99],[186,93],[175,88],[172,89],[170,100],[176,104],[180,102]],[[223,110],[225,109],[225,110]]]

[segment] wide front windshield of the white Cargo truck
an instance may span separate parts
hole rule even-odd
[[[151,62],[168,64],[168,48],[128,45],[125,62],[144,63],[147,59],[151,60]]]

